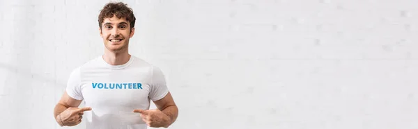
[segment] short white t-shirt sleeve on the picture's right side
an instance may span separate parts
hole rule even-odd
[[[168,94],[169,88],[167,87],[166,79],[160,68],[153,67],[152,75],[149,97],[152,101],[158,101]]]

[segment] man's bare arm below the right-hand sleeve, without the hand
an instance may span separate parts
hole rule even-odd
[[[158,110],[161,110],[164,112],[164,114],[167,114],[169,117],[169,122],[165,126],[165,128],[169,127],[174,121],[176,121],[178,116],[178,107],[176,103],[174,103],[173,97],[171,96],[171,93],[169,92],[164,98],[153,101],[155,103],[155,106],[158,108]]]

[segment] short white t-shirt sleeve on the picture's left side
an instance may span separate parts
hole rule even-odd
[[[80,79],[80,67],[77,67],[71,72],[70,77],[68,78],[67,87],[65,88],[65,91],[71,98],[83,100],[81,86],[82,84]]]

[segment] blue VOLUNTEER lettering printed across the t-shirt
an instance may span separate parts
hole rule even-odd
[[[141,83],[91,83],[93,89],[142,89]]]

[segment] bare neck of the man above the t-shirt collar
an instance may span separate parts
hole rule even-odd
[[[123,65],[130,60],[131,55],[127,51],[110,52],[105,51],[102,58],[109,65]]]

